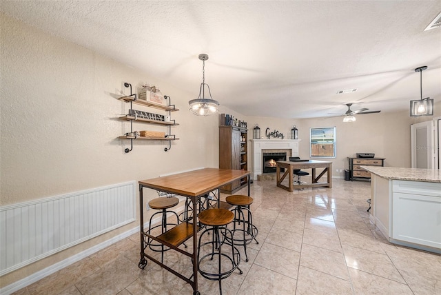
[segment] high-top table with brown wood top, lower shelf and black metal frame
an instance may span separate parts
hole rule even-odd
[[[196,201],[201,196],[208,194],[214,190],[218,190],[219,187],[236,181],[238,179],[247,179],[248,183],[248,196],[249,196],[249,171],[243,170],[225,170],[216,168],[204,168],[201,170],[194,170],[190,172],[184,172],[179,174],[173,174],[170,176],[158,177],[156,179],[147,179],[145,181],[139,181],[139,215],[140,215],[140,227],[141,227],[141,261],[139,261],[139,268],[144,269],[147,265],[149,258],[154,263],[161,265],[161,267],[167,269],[172,274],[175,274],[185,282],[189,283],[193,287],[193,294],[200,294],[198,292],[198,237],[197,233],[199,227],[196,222],[196,214],[193,214],[192,223],[182,222],[171,230],[167,230],[164,234],[159,236],[151,236],[144,232],[144,214],[143,214],[143,188],[151,188],[161,192],[167,192],[170,194],[178,194],[186,196],[192,201],[193,208],[196,210]],[[220,195],[218,194],[220,197]],[[174,269],[168,267],[157,261],[155,258],[145,253],[145,237],[150,237],[154,241],[162,243],[167,247],[170,247],[186,256],[192,258],[193,261],[193,274],[189,278],[176,272]],[[179,249],[179,245],[187,241],[188,238],[193,237],[193,253],[186,252]]]

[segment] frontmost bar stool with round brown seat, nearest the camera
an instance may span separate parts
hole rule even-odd
[[[219,292],[222,294],[222,280],[224,278],[229,277],[235,269],[239,269],[240,274],[243,274],[242,270],[238,268],[240,263],[239,250],[229,242],[232,241],[233,233],[227,229],[227,224],[234,220],[234,214],[224,208],[211,208],[200,212],[198,218],[206,226],[199,237],[198,272],[208,280],[219,281]],[[211,236],[211,239],[203,243],[205,234]],[[228,246],[227,251],[223,251],[225,246]],[[202,258],[200,258],[201,250],[207,252]],[[213,261],[214,256],[218,256],[217,265],[216,261]],[[212,262],[210,263],[210,261]],[[228,265],[225,265],[225,263],[228,263]]]

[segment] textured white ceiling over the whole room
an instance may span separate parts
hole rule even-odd
[[[247,116],[441,99],[441,1],[1,1],[1,11]],[[357,92],[337,94],[338,90]],[[182,108],[182,107],[181,107]],[[375,114],[369,114],[375,116]]]

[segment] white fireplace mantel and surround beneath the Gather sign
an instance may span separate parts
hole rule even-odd
[[[263,173],[262,150],[291,150],[291,156],[298,156],[298,143],[300,139],[252,139],[251,141],[253,179],[257,179],[257,176]]]

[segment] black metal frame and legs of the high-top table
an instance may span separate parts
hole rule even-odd
[[[233,182],[233,181],[231,181]],[[250,190],[249,190],[249,185],[251,183],[251,174],[247,175],[247,183],[248,183],[248,196],[250,194]],[[223,184],[225,185],[225,184]],[[223,186],[222,185],[222,186]],[[145,258],[150,259],[150,261],[153,261],[154,263],[156,263],[157,265],[160,265],[161,267],[163,267],[164,269],[167,269],[167,271],[171,272],[172,274],[174,274],[175,276],[178,276],[178,278],[181,278],[183,281],[189,283],[190,285],[192,285],[193,288],[193,294],[201,294],[198,291],[198,261],[197,261],[197,256],[198,256],[198,235],[197,232],[198,230],[201,230],[201,227],[198,228],[198,225],[196,223],[196,214],[193,214],[193,218],[192,218],[192,225],[193,225],[193,253],[189,253],[186,252],[182,249],[179,249],[178,247],[175,247],[174,245],[170,244],[170,243],[165,243],[164,241],[158,240],[158,238],[156,238],[156,236],[152,236],[150,234],[148,234],[147,232],[144,232],[144,209],[143,209],[143,188],[150,188],[147,187],[145,185],[139,184],[139,219],[140,219],[140,240],[141,240],[141,260],[139,261],[139,265],[138,267],[141,269],[144,269],[145,266],[147,265],[147,260]],[[219,192],[219,187],[216,189],[218,190],[218,201],[220,201],[220,192]],[[166,190],[164,190],[163,192],[167,192]],[[167,193],[174,193],[174,192],[167,192]],[[181,196],[185,196],[185,195],[181,195]],[[186,198],[189,198],[192,201],[193,204],[193,208],[196,208],[196,202],[198,201],[199,198],[201,198],[201,196],[205,196],[205,194],[201,194],[199,196],[185,196]],[[185,221],[188,223],[188,221]],[[176,270],[172,269],[171,267],[168,267],[167,265],[161,263],[161,261],[157,261],[155,258],[153,258],[152,256],[150,256],[149,254],[145,253],[145,236],[152,238],[152,240],[158,242],[158,243],[162,243],[163,245],[170,247],[173,250],[176,250],[186,256],[189,256],[190,258],[192,258],[193,261],[193,274],[192,276],[190,276],[189,278],[183,276],[183,274],[180,274],[178,272],[176,272]],[[192,277],[193,277],[193,281],[192,281]]]

